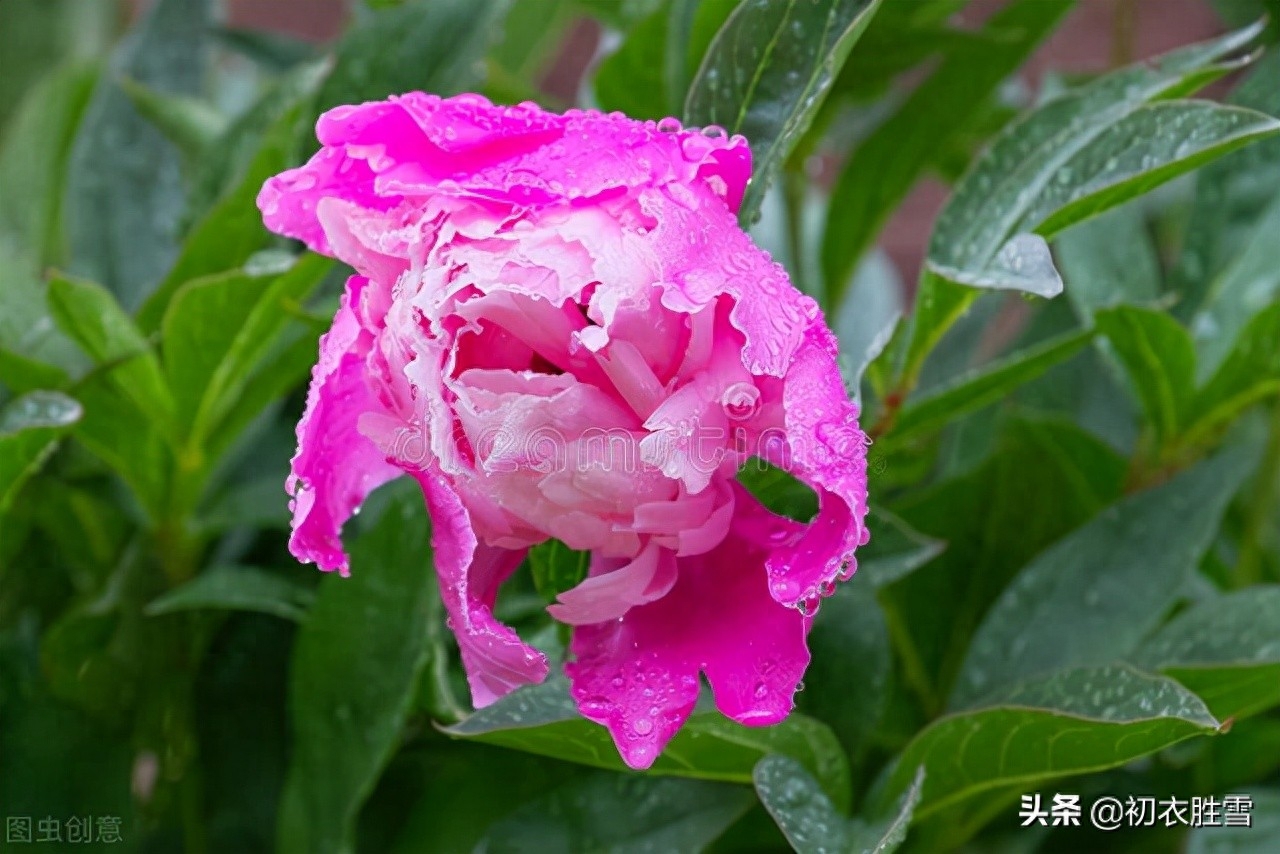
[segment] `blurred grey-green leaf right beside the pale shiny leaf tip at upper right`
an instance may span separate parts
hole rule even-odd
[[[1057,236],[1066,298],[1084,324],[1115,305],[1149,305],[1161,291],[1160,259],[1140,205],[1124,205]]]

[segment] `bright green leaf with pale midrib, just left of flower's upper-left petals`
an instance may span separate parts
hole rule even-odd
[[[164,361],[178,414],[197,447],[239,401],[253,370],[333,268],[305,255],[280,275],[244,271],[183,286],[165,312]]]

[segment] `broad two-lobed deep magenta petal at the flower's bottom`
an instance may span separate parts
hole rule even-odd
[[[771,551],[792,543],[797,522],[737,488],[728,536],[680,560],[671,592],[621,620],[573,630],[566,666],[582,714],[608,727],[632,768],[648,768],[698,700],[698,673],[716,705],[749,726],[782,721],[809,665],[810,618],[769,595]]]

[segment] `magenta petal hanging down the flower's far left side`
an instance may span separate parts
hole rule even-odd
[[[343,575],[348,571],[343,522],[370,492],[401,474],[357,429],[360,416],[378,408],[365,382],[372,337],[352,311],[365,286],[361,277],[347,282],[333,326],[320,338],[320,361],[311,371],[298,452],[285,484],[293,495],[289,551],[300,561]]]

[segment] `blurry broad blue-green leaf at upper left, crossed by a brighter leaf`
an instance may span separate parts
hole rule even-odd
[[[196,95],[206,69],[210,0],[159,0],[111,70],[160,92]],[[104,169],[102,164],[111,164]],[[64,201],[70,269],[140,306],[177,251],[183,188],[177,150],[115,79],[93,92],[72,147]]]

